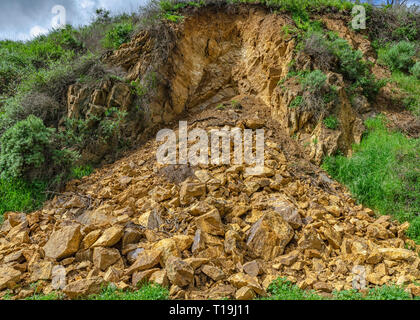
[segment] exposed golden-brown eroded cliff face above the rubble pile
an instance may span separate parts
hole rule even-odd
[[[342,17],[319,19],[374,62],[369,41],[350,31]],[[319,164],[324,155],[338,150],[349,154],[351,145],[360,142],[363,113],[370,111],[370,105],[363,96],[351,103],[342,76],[329,72],[327,82],[337,88],[338,104],[327,107],[321,117],[290,107],[302,90],[291,82],[286,82],[284,89],[279,81],[288,74],[292,60],[303,70],[313,68],[310,57],[296,54],[296,39],[282,31],[292,23],[287,15],[261,8],[198,10],[187,14],[181,24],[167,26],[174,45],[163,64],[156,64],[152,55],[159,38],[147,32],[123,45],[108,61],[123,67],[130,81],[144,81],[150,72],[157,73],[160,82],[146,110],[149,125],[169,123],[183,112],[238,95],[253,96],[271,108],[272,117],[302,146],[308,146],[310,158]],[[341,125],[336,130],[323,125],[329,114],[339,119]]]

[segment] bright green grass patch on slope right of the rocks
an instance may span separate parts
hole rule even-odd
[[[366,121],[367,136],[351,158],[327,157],[323,168],[363,204],[411,223],[408,234],[420,242],[420,140],[391,132],[383,117]]]

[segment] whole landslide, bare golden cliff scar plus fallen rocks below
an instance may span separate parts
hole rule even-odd
[[[408,223],[376,217],[313,163],[337,148],[349,151],[363,133],[366,114],[352,107],[344,80],[327,74],[340,97],[333,107],[338,130],[325,128],[316,112],[292,110],[299,89],[278,86],[296,58],[296,39],[281,32],[290,17],[254,6],[231,10],[198,9],[168,24],[174,42],[158,69],[152,67],[159,38],[148,31],[107,61],[123,67],[128,81],[141,82],[151,70],[161,80],[146,110],[149,131],[139,139],[159,127],[176,129],[180,119],[189,130],[263,128],[263,173],[159,165],[159,145],[149,139],[70,182],[41,210],[5,215],[0,296],[12,290],[24,298],[34,293],[33,283],[37,292],[76,298],[108,283],[127,289],[152,281],[168,286],[173,299],[249,299],[264,296],[278,277],[329,294],[351,289],[360,267],[369,287],[420,279],[419,247],[405,235]],[[320,18],[369,58],[369,42],[346,21]],[[308,57],[300,61],[311,64]],[[70,113],[80,110],[78,90],[69,90]],[[80,103],[88,103],[83,92]],[[122,85],[112,92],[116,101],[130,95]],[[94,95],[101,97],[101,90]],[[294,133],[319,143],[308,152]]]

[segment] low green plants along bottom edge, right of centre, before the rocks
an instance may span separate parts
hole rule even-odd
[[[302,290],[285,278],[278,278],[268,288],[268,297],[262,300],[412,300],[403,287],[384,285],[371,288],[366,293],[357,290],[333,291],[331,298],[317,294],[313,290]],[[416,298],[415,300],[419,300]]]

